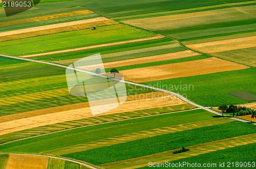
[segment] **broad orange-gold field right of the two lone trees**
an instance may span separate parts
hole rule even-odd
[[[120,71],[120,73],[123,74],[124,79],[135,82],[146,82],[246,68],[249,67],[217,58],[207,58],[196,61],[123,70]]]

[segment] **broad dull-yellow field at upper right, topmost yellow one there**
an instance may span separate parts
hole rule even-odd
[[[226,8],[186,14],[125,20],[122,22],[142,27],[143,29],[147,30],[170,30],[178,29],[180,27],[218,23],[220,21],[224,22],[253,18],[253,16],[248,15],[237,8]]]

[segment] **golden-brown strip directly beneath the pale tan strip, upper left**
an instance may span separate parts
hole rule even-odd
[[[88,28],[91,28],[94,26],[98,27],[98,26],[112,25],[112,24],[117,24],[117,23],[118,22],[109,19],[109,20],[103,20],[103,21],[93,21],[91,23],[74,24],[71,26],[58,27],[58,28],[49,29],[49,30],[34,31],[34,32],[30,32],[29,34],[22,33],[19,30],[18,32],[16,32],[18,34],[1,37],[0,42],[35,37],[35,36],[40,36],[40,35],[56,34],[56,33],[61,33],[61,32],[78,31],[78,30],[88,29]],[[31,30],[31,31],[33,31],[33,30]]]

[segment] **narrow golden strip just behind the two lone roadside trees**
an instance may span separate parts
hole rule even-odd
[[[143,58],[123,60],[123,61],[108,62],[108,63],[104,63],[104,68],[108,69],[108,68],[121,67],[121,66],[167,61],[167,60],[173,60],[173,59],[179,59],[179,58],[193,57],[196,55],[200,55],[200,54],[196,53],[194,51],[191,51],[191,50],[185,50],[185,51],[179,51],[179,52],[174,52],[174,53],[154,55],[151,57],[143,57]],[[98,67],[100,67],[100,65],[96,64],[96,65],[90,65],[90,66],[82,66],[82,67],[78,67],[78,68],[83,69],[83,70],[95,70]]]

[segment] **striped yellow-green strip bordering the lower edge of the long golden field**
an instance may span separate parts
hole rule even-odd
[[[96,124],[101,124],[105,122],[117,121],[117,120],[127,120],[131,118],[146,117],[148,115],[157,115],[157,114],[163,114],[166,112],[188,110],[191,108],[195,108],[195,107],[189,104],[182,104],[182,105],[176,105],[176,106],[152,108],[152,109],[138,110],[133,112],[123,112],[115,115],[90,117],[86,119],[68,121],[64,123],[57,123],[57,124],[22,130],[18,132],[13,132],[10,134],[5,134],[0,138],[0,143],[11,142],[19,138],[27,138],[31,136],[51,133],[54,131],[60,131],[60,130],[75,128],[80,126],[96,125]]]

